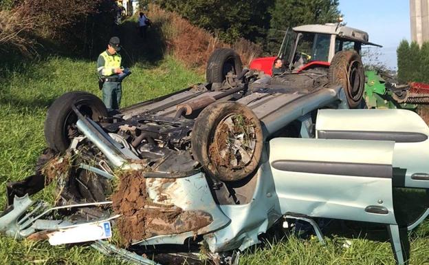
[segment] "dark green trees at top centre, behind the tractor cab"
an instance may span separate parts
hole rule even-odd
[[[143,1],[143,0],[141,0]],[[338,21],[338,0],[153,0],[227,42],[240,37],[277,52],[289,26]],[[267,36],[269,38],[267,39]]]

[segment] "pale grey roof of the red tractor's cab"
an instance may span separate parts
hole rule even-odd
[[[364,32],[363,30],[350,28],[344,25],[338,25],[337,23],[326,23],[325,25],[321,25],[321,24],[300,25],[293,29],[296,32],[315,32],[315,33],[322,33],[322,34],[335,34],[337,36],[340,36],[340,38],[342,39],[348,39],[350,41],[359,41],[362,44],[366,44],[366,45],[380,46],[375,43],[370,43],[368,38],[368,33]]]

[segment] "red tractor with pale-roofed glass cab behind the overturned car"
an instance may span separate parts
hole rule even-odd
[[[250,69],[273,75],[274,61],[281,59],[280,72],[301,72],[313,67],[329,67],[333,56],[342,50],[355,50],[360,54],[362,45],[369,42],[362,30],[327,23],[325,25],[300,25],[287,29],[277,56],[254,59]]]

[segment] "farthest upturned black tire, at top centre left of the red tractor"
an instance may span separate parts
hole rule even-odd
[[[243,70],[241,58],[234,50],[220,48],[210,55],[206,68],[207,83],[222,83],[228,72],[240,74]]]

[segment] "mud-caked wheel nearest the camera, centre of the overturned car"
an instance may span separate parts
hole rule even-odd
[[[253,173],[261,160],[261,122],[243,104],[213,103],[195,120],[191,145],[194,158],[209,176],[241,180]]]

